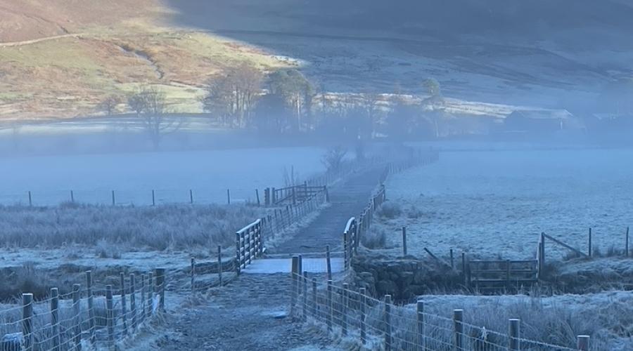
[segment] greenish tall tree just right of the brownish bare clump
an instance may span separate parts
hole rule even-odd
[[[286,101],[286,105],[296,118],[293,129],[302,130],[305,115],[310,116],[314,87],[310,81],[296,69],[281,69],[269,74],[269,91],[279,95]]]

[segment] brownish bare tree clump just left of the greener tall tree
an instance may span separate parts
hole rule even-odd
[[[262,72],[248,64],[229,69],[224,76],[208,82],[204,110],[216,114],[224,124],[239,128],[249,126],[262,91],[262,79]]]

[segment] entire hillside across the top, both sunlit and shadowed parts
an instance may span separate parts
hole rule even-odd
[[[0,0],[0,119],[95,112],[141,84],[199,112],[204,82],[303,62],[337,93],[582,109],[633,77],[626,0]],[[122,108],[122,106],[121,106]]]

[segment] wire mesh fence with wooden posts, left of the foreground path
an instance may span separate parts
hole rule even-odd
[[[72,292],[51,289],[36,300],[23,293],[22,304],[0,310],[0,350],[63,351],[114,347],[131,338],[165,311],[165,270],[126,276],[118,286],[94,284]]]

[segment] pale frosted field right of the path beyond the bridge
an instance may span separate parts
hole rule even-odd
[[[449,249],[474,256],[535,257],[541,232],[587,251],[623,249],[633,223],[633,150],[442,152],[440,161],[391,176],[388,199],[402,214],[382,218],[388,244],[409,253]],[[548,257],[566,249],[549,242]]]

